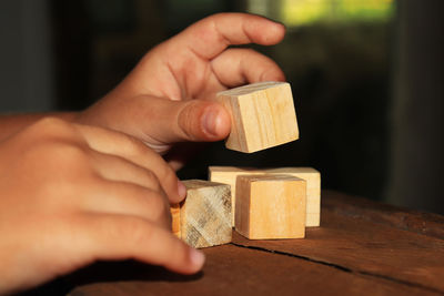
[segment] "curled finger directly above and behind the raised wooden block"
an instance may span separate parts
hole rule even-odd
[[[229,49],[211,61],[218,80],[226,88],[261,81],[285,81],[279,65],[251,49]]]

